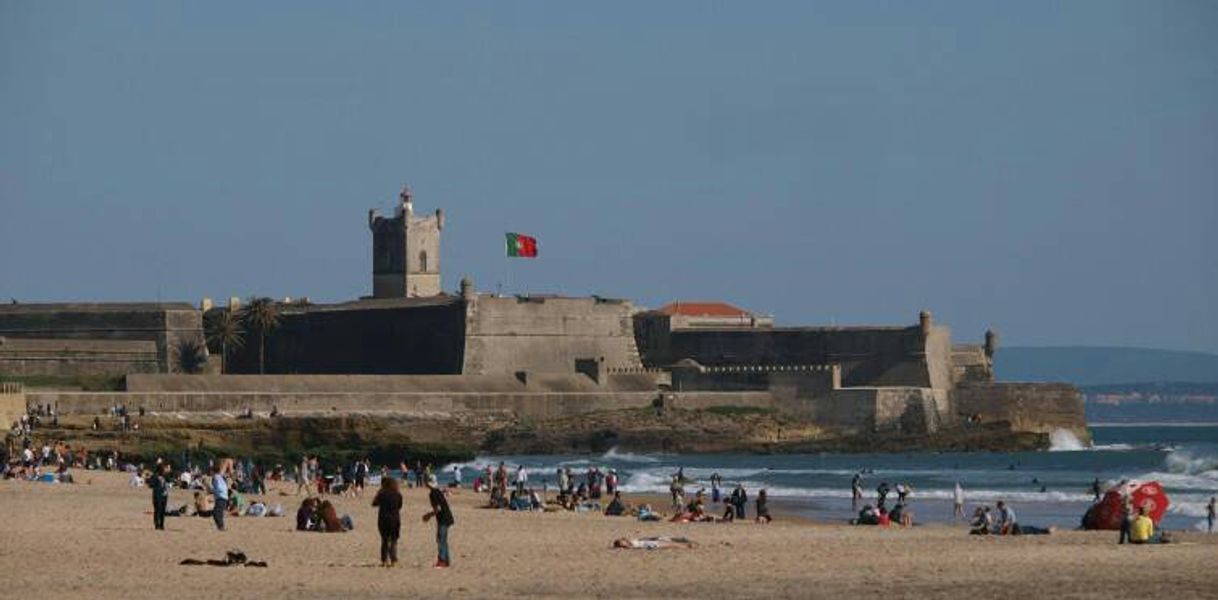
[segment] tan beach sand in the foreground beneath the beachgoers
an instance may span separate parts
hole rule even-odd
[[[431,568],[435,526],[406,490],[402,563],[379,566],[371,490],[342,498],[356,531],[294,531],[285,517],[171,517],[152,529],[150,492],[122,473],[76,471],[77,484],[0,482],[2,598],[1218,598],[1218,535],[1118,546],[1114,532],[971,537],[965,528],[879,529],[776,521],[641,523],[588,514],[480,510],[452,498],[453,567]],[[91,482],[91,483],[90,483]],[[175,490],[169,505],[188,503]],[[916,505],[915,505],[916,506]],[[749,506],[752,511],[752,505]],[[1018,506],[1016,506],[1018,509]],[[693,550],[614,550],[615,538],[685,535]],[[179,566],[240,549],[268,568]]]

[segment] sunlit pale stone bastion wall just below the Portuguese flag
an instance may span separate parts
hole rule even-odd
[[[598,298],[496,298],[470,303],[462,372],[571,372],[576,359],[642,366],[631,304]]]

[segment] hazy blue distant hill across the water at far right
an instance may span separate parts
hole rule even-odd
[[[994,368],[1001,381],[1065,381],[1077,386],[1218,381],[1218,354],[1149,348],[999,348]]]

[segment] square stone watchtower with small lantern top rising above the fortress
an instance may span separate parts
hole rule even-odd
[[[415,217],[410,186],[402,186],[393,217],[368,211],[373,231],[373,297],[417,298],[440,295],[440,232],[445,213]]]

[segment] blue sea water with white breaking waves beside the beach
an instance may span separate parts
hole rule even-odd
[[[959,482],[965,489],[968,515],[979,505],[1006,500],[1021,523],[1073,528],[1090,505],[1091,482],[1104,488],[1122,480],[1161,482],[1170,499],[1162,526],[1197,529],[1205,523],[1206,503],[1218,495],[1218,424],[1091,426],[1094,445],[1085,447],[1068,432],[1051,436],[1052,449],[1027,453],[927,453],[903,454],[637,454],[616,448],[592,455],[479,456],[463,466],[468,484],[470,467],[524,465],[531,486],[544,483],[553,490],[558,467],[571,467],[576,477],[593,466],[615,469],[622,492],[667,494],[678,469],[687,480],[687,494],[705,488],[719,473],[730,492],[743,483],[752,500],[766,489],[771,504],[821,521],[844,522],[851,508],[850,480],[862,472],[864,501],[873,503],[881,482],[912,486],[910,508],[916,521],[952,522],[952,495]],[[440,472],[443,478],[452,465]],[[581,481],[581,480],[576,480]],[[888,505],[895,501],[895,492]],[[714,509],[715,506],[711,506]]]

